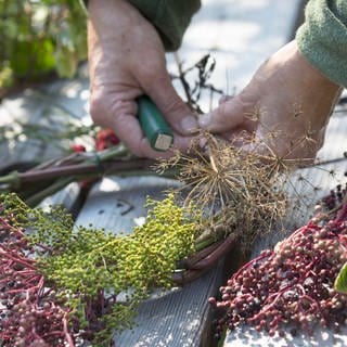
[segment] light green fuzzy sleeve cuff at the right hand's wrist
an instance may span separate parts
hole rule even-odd
[[[296,33],[303,55],[329,79],[347,87],[347,1],[310,0]]]

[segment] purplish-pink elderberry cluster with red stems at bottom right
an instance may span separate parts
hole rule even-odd
[[[344,194],[338,187],[324,204],[334,208]],[[345,324],[347,296],[334,290],[334,281],[347,260],[346,211],[343,203],[333,218],[325,214],[324,222],[316,216],[235,272],[220,288],[221,299],[209,299],[223,314],[216,335],[244,323],[270,336],[284,335],[287,324],[308,334],[317,324],[332,329]]]

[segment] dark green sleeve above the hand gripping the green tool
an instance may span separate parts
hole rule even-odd
[[[201,0],[129,0],[158,30],[167,51],[176,51]],[[88,0],[82,1],[87,7]]]

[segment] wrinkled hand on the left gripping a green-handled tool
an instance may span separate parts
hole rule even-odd
[[[171,155],[151,149],[136,118],[134,100],[144,93],[172,127],[174,147],[185,151],[197,123],[171,85],[156,29],[125,0],[90,0],[88,10],[93,121],[112,128],[138,156]]]

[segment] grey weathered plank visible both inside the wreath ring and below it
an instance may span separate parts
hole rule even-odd
[[[146,215],[145,197],[160,198],[174,185],[177,182],[156,177],[105,178],[92,189],[76,224],[130,232]],[[143,303],[136,327],[115,336],[116,346],[198,346],[209,314],[207,299],[220,285],[220,277],[221,266],[182,288]]]

